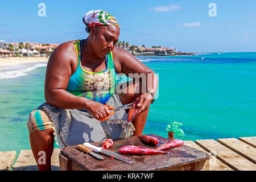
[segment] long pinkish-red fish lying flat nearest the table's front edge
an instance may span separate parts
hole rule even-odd
[[[118,152],[121,154],[168,154],[169,151],[156,150],[154,148],[140,147],[140,146],[123,146],[118,149]]]

